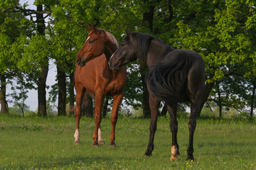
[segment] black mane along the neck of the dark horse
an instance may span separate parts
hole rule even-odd
[[[132,33],[132,36],[137,40],[137,57],[139,58],[139,63],[142,67],[146,65],[146,55],[149,50],[151,40],[157,40],[166,46],[166,49],[162,52],[162,54],[159,54],[159,57],[174,50],[172,47],[167,45],[166,42],[159,40],[155,36],[148,33]]]

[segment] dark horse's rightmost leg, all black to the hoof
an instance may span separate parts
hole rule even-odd
[[[188,157],[187,159],[193,160],[193,135],[196,130],[196,117],[200,112],[200,101],[191,102],[191,116],[188,122],[188,130],[189,130],[189,141],[188,141]]]

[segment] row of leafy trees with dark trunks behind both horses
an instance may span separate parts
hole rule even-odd
[[[248,0],[35,0],[36,9],[18,0],[0,2],[1,113],[9,113],[6,88],[14,103],[38,91],[38,115],[46,116],[49,62],[57,66],[50,99],[58,115],[75,103],[75,57],[93,24],[118,42],[125,28],[150,33],[177,49],[200,53],[206,62],[206,91],[201,108],[234,108],[253,115],[256,89],[256,2]],[[129,72],[124,103],[150,115],[144,82],[146,68],[137,62]],[[88,97],[90,101],[92,100]],[[92,114],[92,102],[85,108]],[[105,111],[111,99],[105,100]],[[22,106],[21,106],[22,107]],[[73,111],[70,110],[70,115]]]

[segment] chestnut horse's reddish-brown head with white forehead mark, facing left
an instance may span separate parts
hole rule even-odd
[[[88,38],[75,59],[80,67],[85,66],[86,62],[105,52],[105,36],[102,31],[94,26],[88,28],[90,30]]]

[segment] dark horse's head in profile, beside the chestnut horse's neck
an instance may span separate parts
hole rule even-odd
[[[123,65],[137,59],[137,42],[134,41],[133,33],[126,30],[127,36],[122,40],[121,45],[110,57],[110,69],[118,69]]]

